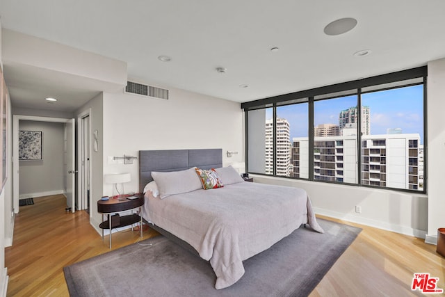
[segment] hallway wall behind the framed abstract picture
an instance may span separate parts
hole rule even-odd
[[[19,161],[20,198],[64,193],[63,123],[20,120],[19,130],[42,131],[42,160]]]

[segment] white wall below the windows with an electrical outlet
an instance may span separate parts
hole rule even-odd
[[[252,177],[254,182],[304,188],[316,214],[420,238],[426,235],[428,200],[425,195],[257,175]],[[355,213],[356,205],[362,207],[361,214]]]

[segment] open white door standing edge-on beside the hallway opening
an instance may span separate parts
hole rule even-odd
[[[74,119],[68,120],[65,125],[65,150],[66,150],[66,185],[67,185],[67,207],[71,211],[76,211],[76,166],[75,166],[75,152],[74,150]]]

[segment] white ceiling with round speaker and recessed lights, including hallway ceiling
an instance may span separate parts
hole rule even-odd
[[[444,15],[443,0],[0,2],[3,28],[124,61],[129,79],[140,83],[235,102],[444,58]],[[357,19],[357,26],[341,35],[323,33],[343,17]],[[279,50],[270,51],[273,47]],[[354,56],[364,49],[371,54]],[[161,55],[172,60],[162,62]],[[83,88],[70,76],[4,67],[15,106],[74,111],[101,91]],[[70,102],[49,105],[42,98],[50,94]]]

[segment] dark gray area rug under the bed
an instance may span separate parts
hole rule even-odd
[[[361,229],[318,219],[244,262],[236,284],[216,290],[209,262],[164,236],[63,268],[70,296],[307,296]]]

